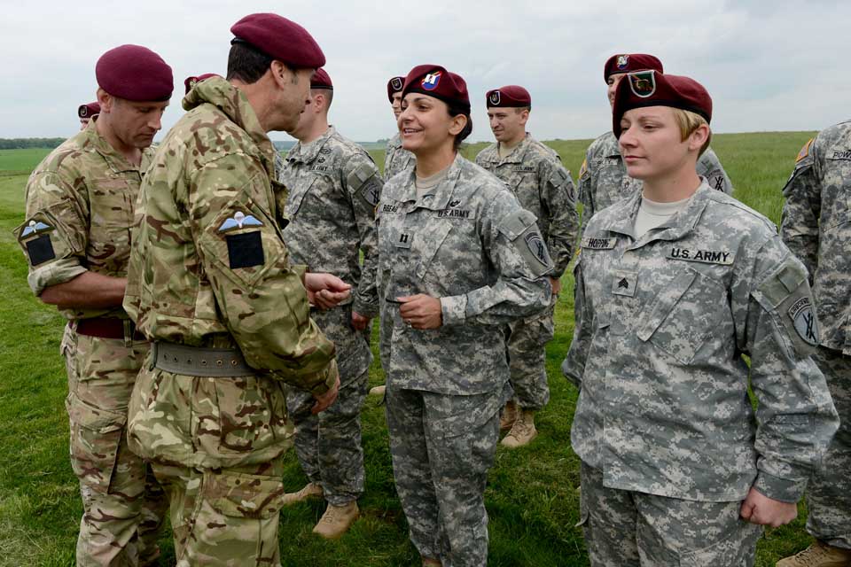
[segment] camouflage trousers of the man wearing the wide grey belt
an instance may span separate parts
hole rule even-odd
[[[153,463],[168,493],[176,567],[280,567],[283,458],[227,469]]]

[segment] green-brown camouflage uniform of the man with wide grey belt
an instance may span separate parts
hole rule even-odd
[[[177,565],[278,565],[281,461],[293,436],[284,388],[326,392],[334,346],[310,319],[303,267],[290,265],[275,150],[245,95],[214,77],[183,107],[139,199],[124,307],[158,342],[130,400],[129,444],[168,493]],[[160,349],[175,344],[238,349],[251,368],[161,369],[172,361]],[[173,362],[198,365],[192,356]]]

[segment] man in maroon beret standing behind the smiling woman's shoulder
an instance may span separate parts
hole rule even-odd
[[[507,85],[488,90],[485,101],[496,144],[480,151],[476,163],[508,184],[520,205],[535,214],[555,265],[550,307],[510,325],[507,352],[514,398],[505,405],[500,429],[511,430],[502,445],[516,448],[535,439],[535,412],[550,400],[545,348],[553,337],[560,278],[573,258],[579,216],[570,173],[555,151],[526,131],[532,108],[529,91]]]

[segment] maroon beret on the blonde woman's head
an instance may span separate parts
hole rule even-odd
[[[614,93],[612,129],[616,137],[621,137],[623,114],[644,106],[671,106],[712,120],[712,97],[694,79],[655,71],[630,73],[623,79]]]

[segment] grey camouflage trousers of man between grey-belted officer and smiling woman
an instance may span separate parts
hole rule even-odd
[[[309,392],[289,388],[286,408],[295,423],[295,454],[310,482],[322,485],[325,500],[334,506],[355,501],[363,493],[361,408],[368,373],[340,385],[337,400],[318,415],[310,413]]]

